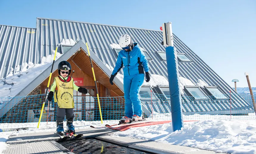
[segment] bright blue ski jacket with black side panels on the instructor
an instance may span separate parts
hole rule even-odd
[[[137,46],[138,43],[133,44],[134,47],[132,51],[127,52],[125,50],[121,50],[119,52],[112,75],[115,76],[123,66],[124,76],[144,74],[144,70],[145,72],[149,71],[148,60],[145,54]]]

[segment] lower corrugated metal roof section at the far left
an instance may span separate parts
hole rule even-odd
[[[0,78],[24,62],[38,63],[36,29],[0,25]]]

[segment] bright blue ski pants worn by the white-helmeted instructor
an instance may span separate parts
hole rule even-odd
[[[144,74],[124,76],[125,116],[141,116],[142,106],[139,92],[144,81]]]

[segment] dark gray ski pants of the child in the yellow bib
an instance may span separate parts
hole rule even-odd
[[[56,115],[56,121],[57,122],[63,122],[66,115],[67,121],[73,121],[74,118],[74,110],[73,109],[63,109],[59,108],[57,105],[57,115]]]

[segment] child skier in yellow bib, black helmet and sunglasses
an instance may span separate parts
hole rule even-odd
[[[58,65],[59,76],[54,78],[48,94],[48,100],[51,102],[54,95],[54,102],[57,102],[57,133],[64,135],[63,120],[64,116],[67,119],[67,132],[75,134],[75,127],[73,125],[74,118],[74,100],[73,90],[87,94],[86,88],[79,88],[75,85],[74,79],[69,75],[71,73],[71,65],[67,61],[62,61]],[[55,92],[54,92],[55,91]]]

